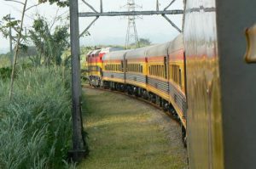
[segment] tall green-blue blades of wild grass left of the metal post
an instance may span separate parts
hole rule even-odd
[[[0,82],[0,168],[63,168],[71,143],[70,76],[59,68],[22,70]]]

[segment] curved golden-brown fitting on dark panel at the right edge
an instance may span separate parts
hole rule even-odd
[[[256,24],[246,30],[247,51],[245,60],[247,63],[256,62]]]

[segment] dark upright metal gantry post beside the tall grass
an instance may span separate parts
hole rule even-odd
[[[80,161],[85,155],[83,121],[81,115],[81,83],[79,56],[79,7],[78,0],[70,0],[70,41],[72,55],[72,102],[73,102],[73,150],[69,155],[73,161]]]

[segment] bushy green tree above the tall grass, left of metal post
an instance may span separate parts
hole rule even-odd
[[[43,17],[34,20],[30,30],[32,42],[38,50],[38,55],[32,61],[40,65],[41,58],[44,65],[61,65],[61,55],[68,48],[68,26],[56,26],[54,33],[50,31],[49,24]]]

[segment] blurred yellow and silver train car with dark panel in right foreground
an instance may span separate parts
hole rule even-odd
[[[256,1],[185,2],[189,168],[255,168]]]

